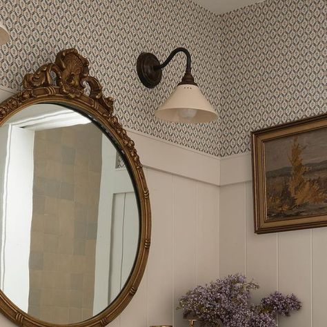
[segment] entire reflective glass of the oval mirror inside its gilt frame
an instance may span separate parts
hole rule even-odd
[[[0,128],[0,287],[52,324],[90,319],[119,295],[139,212],[119,152],[95,124],[37,104]]]

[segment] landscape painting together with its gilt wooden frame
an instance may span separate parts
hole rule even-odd
[[[327,226],[327,115],[252,132],[255,232]]]

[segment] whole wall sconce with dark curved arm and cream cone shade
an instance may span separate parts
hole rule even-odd
[[[155,111],[156,117],[177,123],[208,123],[218,115],[210,102],[202,95],[191,74],[190,52],[186,48],[173,50],[164,63],[159,62],[155,54],[143,52],[137,58],[137,74],[147,88],[155,88],[162,76],[162,69],[178,52],[186,54],[186,72],[176,90]]]

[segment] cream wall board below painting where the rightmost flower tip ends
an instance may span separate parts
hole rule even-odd
[[[279,290],[295,293],[303,304],[292,317],[280,317],[279,327],[311,326],[311,232],[279,233]]]

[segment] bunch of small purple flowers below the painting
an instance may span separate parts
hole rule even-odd
[[[184,316],[197,317],[208,327],[275,327],[276,315],[290,315],[301,303],[295,295],[273,293],[258,305],[249,304],[250,290],[259,288],[244,275],[230,275],[206,286],[197,286],[179,299]]]

